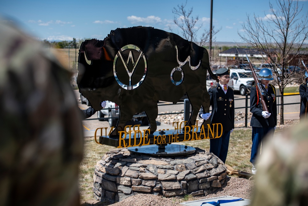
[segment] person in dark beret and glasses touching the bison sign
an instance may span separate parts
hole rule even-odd
[[[223,133],[220,138],[210,139],[210,152],[213,152],[218,158],[225,163],[230,133],[234,129],[234,95],[231,87],[228,86],[230,80],[230,69],[221,68],[216,72],[218,83],[209,88],[210,105],[212,113],[203,113],[201,107],[199,116],[208,120],[211,116],[211,124],[221,123]]]

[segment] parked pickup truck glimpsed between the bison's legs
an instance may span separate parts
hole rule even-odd
[[[119,105],[117,105],[114,102],[106,101],[106,107],[100,111],[97,111],[97,118],[99,121],[103,121],[101,118],[104,118],[104,116],[108,116],[108,122],[110,127],[115,127],[118,122],[119,117]],[[137,113],[135,115],[145,115],[145,112]],[[112,118],[114,117],[114,118]],[[141,121],[143,125],[148,125],[148,117],[142,116],[142,117],[135,117],[132,119],[133,121]]]

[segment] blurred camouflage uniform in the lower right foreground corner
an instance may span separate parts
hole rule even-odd
[[[307,120],[264,144],[252,206],[308,204],[307,148]]]

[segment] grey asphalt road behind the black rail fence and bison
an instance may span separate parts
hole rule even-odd
[[[78,90],[75,90],[75,95],[77,98],[80,98],[80,93]],[[249,96],[248,96],[249,97]],[[238,107],[245,107],[245,96],[241,96],[238,93],[234,95],[235,99],[235,112],[242,111],[245,112],[245,108],[238,108]],[[285,96],[284,103],[299,103],[300,96]],[[277,103],[281,103],[280,99],[278,98]],[[81,109],[87,109],[88,106],[86,104],[81,104],[80,101],[78,102],[78,106]],[[248,99],[248,112],[249,112],[249,99]],[[238,109],[237,109],[238,108]],[[280,108],[280,107],[279,107]],[[278,116],[279,116],[279,108],[278,108]],[[184,102],[179,102],[177,104],[172,104],[169,102],[159,102],[158,103],[158,112],[174,112],[174,111],[184,111]],[[285,105],[284,106],[284,118],[287,119],[299,119],[299,104],[294,105]],[[105,116],[107,117],[107,116]],[[130,122],[130,124],[141,124],[140,122]],[[92,117],[88,118],[87,120],[83,120],[83,128],[84,131],[95,131],[96,128],[104,128],[107,127],[108,131],[110,130],[108,121],[99,121],[97,120],[97,113],[95,113]]]

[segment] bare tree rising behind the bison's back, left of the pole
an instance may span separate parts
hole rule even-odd
[[[209,41],[210,29],[205,29],[204,33],[201,34],[201,37],[198,40],[197,32],[203,27],[203,23],[200,25],[197,24],[199,21],[199,16],[197,15],[196,17],[193,17],[193,7],[186,11],[186,4],[187,1],[185,4],[177,5],[177,7],[173,8],[172,13],[175,14],[173,21],[182,30],[181,34],[184,39],[192,41],[199,46],[205,46],[205,43]],[[172,31],[171,26],[169,26],[169,29]],[[213,27],[212,35],[214,36],[220,30],[221,28],[214,31]]]

